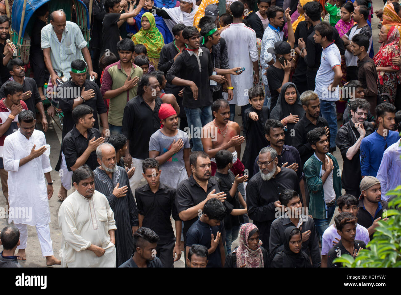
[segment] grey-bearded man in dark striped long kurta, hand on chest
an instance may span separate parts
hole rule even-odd
[[[96,149],[100,164],[95,174],[95,187],[103,193],[114,212],[116,267],[132,257],[134,232],[138,229],[138,208],[130,188],[130,179],[123,167],[117,165],[115,149],[109,143],[102,143]]]

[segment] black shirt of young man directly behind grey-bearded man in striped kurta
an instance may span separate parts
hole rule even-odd
[[[75,165],[75,162],[88,147],[89,140],[93,137],[95,139],[101,137],[99,129],[91,128],[88,129],[88,138],[85,138],[74,125],[73,129],[65,134],[61,149],[65,155],[65,162],[67,164],[68,171],[72,171],[71,167]],[[86,163],[92,170],[95,170],[99,163],[97,163],[96,151],[93,151]]]

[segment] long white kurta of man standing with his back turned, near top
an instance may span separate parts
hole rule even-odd
[[[231,84],[233,85],[233,100],[230,104],[237,106],[247,106],[249,104],[248,92],[253,87],[253,63],[256,62],[257,80],[259,80],[259,66],[257,65],[257,47],[256,47],[256,33],[251,28],[242,23],[230,24],[221,33],[221,38],[227,43],[227,53],[230,63],[230,68],[245,67],[241,75],[231,75]],[[256,78],[255,78],[256,79]],[[227,99],[227,94],[223,93],[223,97]],[[244,109],[245,110],[245,109]],[[235,112],[231,113],[233,116]],[[233,120],[233,118],[231,118]]]

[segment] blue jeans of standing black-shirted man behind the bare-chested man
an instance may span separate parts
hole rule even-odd
[[[201,132],[202,127],[213,120],[211,106],[204,106],[203,108],[185,108],[186,120],[188,127],[191,131],[192,138],[192,152],[203,151]],[[193,130],[193,133],[192,133]],[[199,134],[199,136],[194,136]]]

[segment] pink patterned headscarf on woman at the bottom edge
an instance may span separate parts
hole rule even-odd
[[[249,248],[248,239],[250,234],[255,234],[258,228],[255,224],[245,223],[241,225],[239,229],[239,246],[236,249],[237,254],[237,267],[241,267],[245,264],[245,267],[264,267],[263,254],[260,246],[262,241],[259,240],[257,250],[253,251]],[[251,236],[252,236],[251,235]]]

